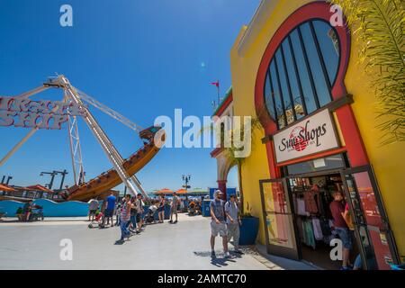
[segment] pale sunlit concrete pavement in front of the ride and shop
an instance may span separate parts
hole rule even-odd
[[[118,227],[88,229],[84,219],[31,223],[0,222],[0,269],[283,269],[256,251],[224,259],[217,238],[211,259],[210,220],[179,214],[179,222],[148,225],[123,245]],[[63,238],[72,240],[73,259],[59,257]],[[230,246],[231,247],[231,246]]]

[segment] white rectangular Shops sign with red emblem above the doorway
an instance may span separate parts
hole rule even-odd
[[[328,109],[278,132],[273,139],[277,163],[339,146]]]

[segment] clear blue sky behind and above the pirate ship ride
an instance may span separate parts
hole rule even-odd
[[[62,4],[73,7],[73,27],[59,25]],[[229,87],[229,49],[259,0],[0,0],[0,94],[20,94],[55,72],[146,128],[159,115],[211,115],[220,79]],[[35,99],[58,100],[58,90]],[[140,146],[136,133],[92,110],[123,157]],[[83,121],[79,125],[87,179],[111,167]],[[0,128],[0,157],[29,130]],[[216,184],[210,148],[165,148],[137,175],[151,191],[182,184]],[[66,126],[38,131],[2,167],[11,184],[46,184],[41,171],[67,169],[73,183]],[[56,179],[59,183],[59,178]],[[229,186],[237,185],[236,172]],[[121,188],[121,186],[120,186]]]

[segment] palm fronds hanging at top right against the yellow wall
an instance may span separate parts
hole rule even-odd
[[[329,0],[359,39],[359,64],[373,79],[382,144],[405,141],[405,4],[403,0]]]

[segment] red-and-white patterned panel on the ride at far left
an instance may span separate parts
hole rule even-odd
[[[0,97],[0,126],[57,130],[69,115],[85,116],[85,108],[61,101]]]

